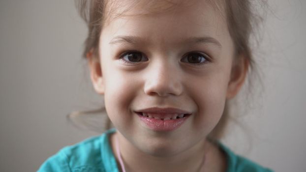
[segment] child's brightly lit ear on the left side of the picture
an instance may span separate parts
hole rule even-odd
[[[92,55],[92,51],[87,54],[87,60],[90,68],[90,75],[94,90],[98,94],[104,94],[104,83],[102,78],[102,68],[98,57]]]

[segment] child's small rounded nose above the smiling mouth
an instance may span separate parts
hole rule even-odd
[[[144,91],[147,95],[161,97],[182,94],[182,76],[178,67],[165,62],[151,66],[147,71]]]

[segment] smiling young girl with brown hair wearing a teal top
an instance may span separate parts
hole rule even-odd
[[[92,84],[116,129],[61,149],[39,172],[271,172],[218,142],[253,63],[249,0],[80,5]]]

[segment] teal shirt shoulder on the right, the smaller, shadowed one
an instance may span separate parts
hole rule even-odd
[[[227,170],[226,172],[273,172],[243,156],[236,155],[225,145],[218,143],[221,150],[226,154]]]

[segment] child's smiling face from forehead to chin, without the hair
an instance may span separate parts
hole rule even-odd
[[[239,77],[231,75],[234,45],[221,11],[205,0],[148,12],[153,5],[134,6],[104,26],[101,73],[93,74],[93,82],[122,139],[143,152],[168,156],[204,141],[241,83],[231,80]],[[191,115],[163,123],[136,113],[147,108]]]

